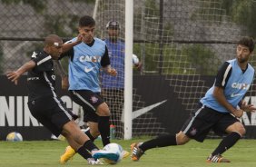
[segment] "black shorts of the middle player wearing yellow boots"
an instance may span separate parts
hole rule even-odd
[[[96,113],[97,107],[104,103],[100,93],[94,93],[89,90],[76,90],[70,91],[71,98],[74,103],[83,107],[84,122],[98,123],[98,114]]]

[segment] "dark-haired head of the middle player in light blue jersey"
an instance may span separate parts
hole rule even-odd
[[[86,44],[92,43],[94,39],[95,31],[95,20],[90,15],[84,15],[79,20],[78,31],[80,34],[83,34],[83,42]]]

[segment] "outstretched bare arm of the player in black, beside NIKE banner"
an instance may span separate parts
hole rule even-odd
[[[12,82],[15,82],[15,84],[17,84],[18,78],[25,72],[33,69],[34,66],[35,66],[35,63],[33,60],[31,60],[31,61],[25,63],[23,66],[21,66],[18,70],[14,71],[14,72],[7,72],[6,75],[9,80],[11,80]]]

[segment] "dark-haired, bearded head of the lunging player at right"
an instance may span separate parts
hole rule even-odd
[[[251,37],[243,37],[237,43],[236,53],[239,63],[246,63],[254,50],[254,42]]]

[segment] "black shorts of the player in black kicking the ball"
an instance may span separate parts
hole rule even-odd
[[[34,118],[54,133],[55,136],[62,133],[65,123],[77,118],[58,98],[45,97],[27,104]]]

